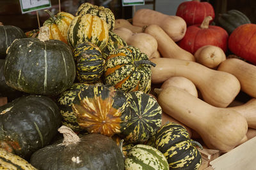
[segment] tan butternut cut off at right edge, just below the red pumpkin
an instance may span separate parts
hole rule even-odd
[[[241,90],[246,94],[256,97],[256,66],[241,59],[227,59],[221,62],[219,71],[233,74],[240,81]]]

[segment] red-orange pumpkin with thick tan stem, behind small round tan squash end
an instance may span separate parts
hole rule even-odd
[[[191,25],[187,28],[184,38],[178,45],[188,52],[195,53],[198,48],[205,45],[219,46],[227,52],[228,33],[220,26],[209,25],[211,16],[204,18],[201,25]]]

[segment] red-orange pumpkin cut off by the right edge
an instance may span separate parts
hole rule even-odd
[[[237,56],[256,64],[256,24],[237,27],[230,34],[228,48]]]

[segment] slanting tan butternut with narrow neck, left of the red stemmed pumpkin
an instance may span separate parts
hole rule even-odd
[[[159,25],[149,25],[144,32],[156,39],[162,57],[195,61],[194,55],[180,48]]]

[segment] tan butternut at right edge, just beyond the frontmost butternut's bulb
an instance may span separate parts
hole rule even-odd
[[[243,115],[246,118],[248,127],[256,129],[256,99],[250,99],[250,101],[241,104],[240,106],[228,107],[228,110],[234,110]]]

